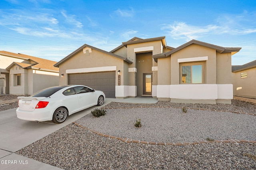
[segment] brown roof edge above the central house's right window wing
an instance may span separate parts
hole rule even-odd
[[[168,56],[170,56],[172,53],[175,53],[176,51],[179,51],[191,44],[198,44],[198,45],[202,45],[204,47],[209,47],[212,49],[216,49],[216,51],[218,51],[219,53],[231,53],[231,55],[237,53],[238,51],[240,51],[240,47],[220,47],[218,45],[213,45],[213,44],[209,44],[209,43],[204,43],[202,41],[197,41],[195,39],[192,39],[191,41],[177,47],[176,49],[173,49],[172,51],[168,51],[166,53],[161,53],[161,54],[157,54],[157,55],[153,55],[152,57],[157,60],[159,58],[166,58]]]

